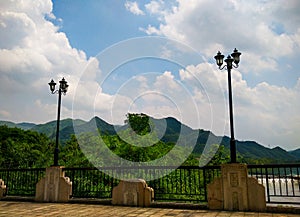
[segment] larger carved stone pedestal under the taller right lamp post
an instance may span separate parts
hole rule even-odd
[[[208,185],[210,209],[264,211],[265,188],[256,179],[248,177],[247,165],[224,164],[221,177]]]

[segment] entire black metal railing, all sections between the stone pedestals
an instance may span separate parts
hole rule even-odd
[[[155,192],[156,201],[207,202],[207,185],[221,175],[220,166],[147,167],[147,168],[64,168],[72,181],[72,196],[77,198],[112,198],[119,180],[144,178]],[[133,171],[134,170],[134,174]],[[168,175],[168,170],[171,170]],[[300,164],[248,165],[249,176],[265,186],[267,203],[300,204]],[[7,195],[34,196],[36,183],[45,169],[0,169],[0,178],[8,188]],[[146,178],[145,178],[146,177]],[[156,178],[159,177],[159,178]]]

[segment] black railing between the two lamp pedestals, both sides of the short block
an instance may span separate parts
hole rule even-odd
[[[170,174],[154,179],[161,174],[167,174],[170,170],[172,170]],[[219,175],[220,167],[103,167],[100,170],[64,168],[64,172],[73,182],[73,197],[112,198],[112,189],[118,185],[119,180],[108,174],[121,174],[127,179],[153,178],[147,184],[154,189],[156,201],[205,202],[207,201],[207,184]]]

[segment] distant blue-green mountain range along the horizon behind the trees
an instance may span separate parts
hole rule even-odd
[[[155,126],[152,130],[154,130],[158,138],[165,143],[177,143],[181,146],[188,147],[196,142],[193,149],[195,155],[200,155],[206,144],[221,144],[227,149],[229,149],[230,146],[229,137],[216,136],[210,131],[201,129],[192,129],[172,117],[163,119],[150,118],[150,122]],[[56,121],[38,125],[26,123],[15,124],[13,122],[0,121],[0,125],[31,129],[43,133],[51,139],[55,139]],[[99,117],[94,117],[88,122],[79,119],[64,119],[60,121],[60,141],[64,145],[65,142],[70,139],[71,135],[75,133],[100,132],[102,135],[115,135],[116,132],[126,130],[127,128],[127,124],[123,126],[114,126]],[[300,149],[291,152],[287,152],[280,147],[270,149],[255,141],[236,141],[236,144],[238,153],[246,160],[264,159],[265,161],[263,162],[269,163],[300,161]]]

